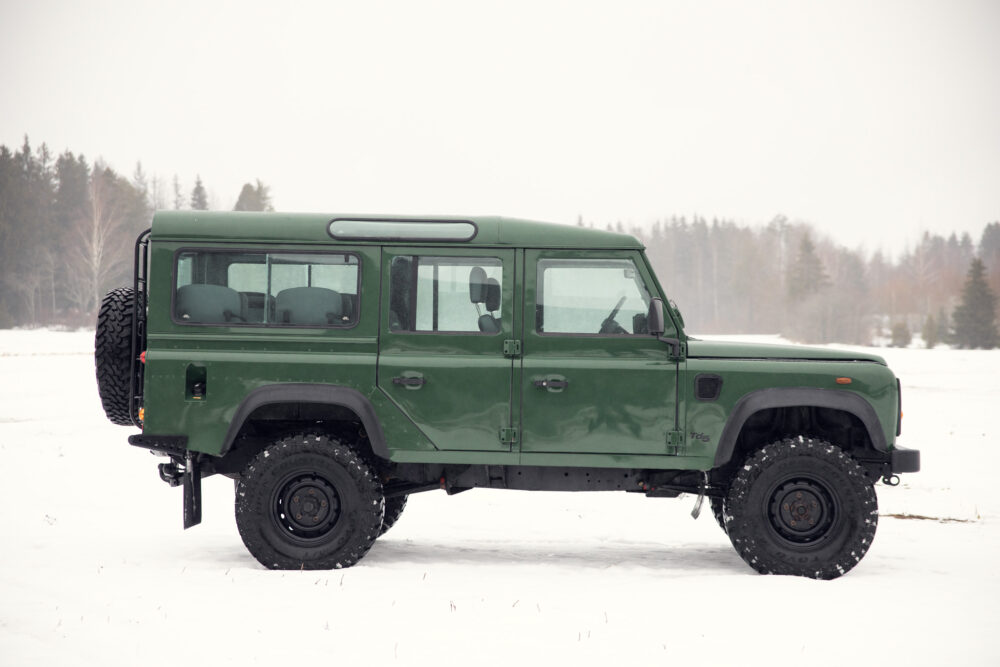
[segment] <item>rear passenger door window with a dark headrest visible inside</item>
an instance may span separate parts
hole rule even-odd
[[[493,257],[396,257],[389,272],[389,328],[499,333],[501,285],[503,265]]]

